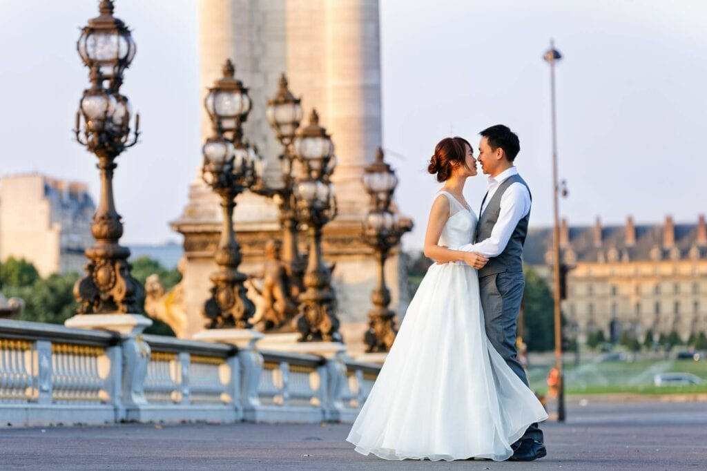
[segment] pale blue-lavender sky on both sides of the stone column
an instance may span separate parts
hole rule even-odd
[[[201,162],[197,0],[117,0],[138,52],[122,93],[140,112],[141,142],[119,156],[117,209],[126,244],[180,240]],[[98,0],[0,0],[0,176],[40,172],[88,182],[95,157],[73,140],[88,70],[79,28]],[[380,1],[382,146],[397,201],[421,248],[438,185],[437,141],[507,124],[533,194],[531,226],[552,222],[549,66],[554,38],[560,202],[571,225],[695,223],[707,212],[707,2],[699,0]],[[486,178],[467,181],[479,207]]]

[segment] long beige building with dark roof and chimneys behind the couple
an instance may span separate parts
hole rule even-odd
[[[567,275],[563,313],[570,335],[585,342],[603,330],[616,341],[676,331],[682,339],[707,332],[707,224],[568,226],[560,228]],[[525,264],[552,286],[552,229],[528,231]]]

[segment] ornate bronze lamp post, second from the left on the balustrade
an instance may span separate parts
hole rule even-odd
[[[243,286],[247,275],[238,272],[241,255],[233,231],[233,209],[238,194],[253,185],[262,173],[263,163],[255,149],[243,141],[241,124],[250,112],[250,98],[247,88],[234,75],[235,69],[228,60],[223,66],[223,78],[209,89],[205,102],[214,136],[204,144],[202,177],[221,197],[223,209],[221,240],[215,255],[220,269],[211,275],[214,286],[204,304],[204,315],[209,320],[207,329],[245,329],[250,327],[250,318],[255,313]]]

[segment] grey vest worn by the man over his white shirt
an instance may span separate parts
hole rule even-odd
[[[503,197],[503,193],[508,190],[508,187],[513,185],[515,182],[522,183],[528,189],[528,193],[530,193],[530,188],[528,188],[525,180],[520,178],[520,175],[511,175],[506,178],[506,180],[503,180],[503,183],[498,186],[498,190],[496,190],[496,193],[493,194],[491,201],[489,201],[489,204],[486,206],[486,209],[484,209],[484,212],[479,218],[479,223],[477,224],[477,235],[475,238],[477,242],[491,237],[491,231],[493,230],[493,226],[496,225],[496,221],[498,221],[498,214],[501,212],[501,197]],[[486,195],[488,196],[488,193]],[[484,202],[485,201],[486,197],[484,197]],[[481,202],[481,207],[484,206],[484,202]],[[528,211],[528,214],[526,214],[524,218],[518,221],[518,225],[515,226],[513,234],[511,234],[510,239],[508,240],[508,245],[506,245],[503,252],[501,252],[501,254],[497,257],[489,259],[489,263],[487,263],[484,268],[479,270],[479,278],[488,277],[489,275],[503,272],[523,271],[521,255],[523,252],[523,244],[525,243],[525,236],[528,232],[529,219],[530,211]]]

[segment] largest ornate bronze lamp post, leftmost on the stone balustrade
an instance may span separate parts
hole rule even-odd
[[[88,21],[78,40],[78,53],[90,68],[92,86],[83,92],[76,113],[76,139],[98,157],[101,180],[100,204],[91,226],[96,245],[86,250],[86,277],[74,286],[81,314],[138,313],[136,301],[142,290],[130,275],[130,250],[118,243],[123,226],[112,187],[115,158],[134,146],[139,136],[139,116],[131,129],[132,109],[127,97],[119,93],[135,43],[128,28],[112,13],[112,1],[102,1],[100,16]]]

